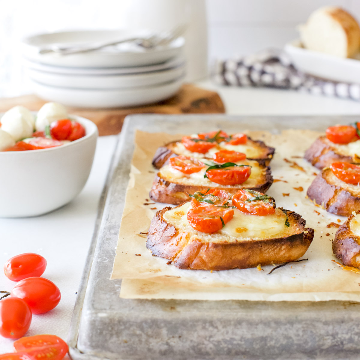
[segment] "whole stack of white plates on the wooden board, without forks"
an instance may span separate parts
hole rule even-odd
[[[68,46],[132,36],[125,31],[72,31],[24,39],[24,64],[34,92],[45,100],[86,108],[145,105],[175,95],[185,76],[182,37],[153,49],[126,43],[69,55],[39,53],[51,44]]]

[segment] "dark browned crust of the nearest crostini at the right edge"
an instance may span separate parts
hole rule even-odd
[[[359,214],[360,211],[356,213]],[[350,229],[350,221],[353,217],[354,215],[351,214],[336,231],[333,253],[343,265],[360,267],[360,238]]]

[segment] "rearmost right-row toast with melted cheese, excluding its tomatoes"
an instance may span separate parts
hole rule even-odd
[[[337,161],[358,163],[360,161],[359,157],[355,155],[356,150],[354,143],[334,144],[326,136],[320,136],[306,150],[305,159],[318,169],[328,167]]]

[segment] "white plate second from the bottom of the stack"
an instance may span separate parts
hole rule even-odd
[[[124,75],[67,75],[27,69],[28,76],[44,85],[71,89],[122,89],[151,86],[173,81],[184,73],[184,66],[174,69]]]

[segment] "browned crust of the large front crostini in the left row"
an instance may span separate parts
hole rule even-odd
[[[293,261],[305,254],[314,237],[314,229],[305,228],[305,220],[300,215],[286,210],[294,229],[294,234],[290,236],[264,240],[239,239],[236,243],[203,242],[200,237],[191,237],[190,233],[168,224],[163,214],[170,209],[165,207],[153,217],[146,247],[153,255],[172,260],[180,269],[245,269],[259,264]]]

